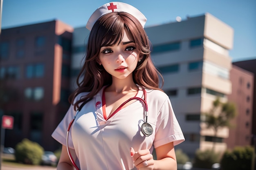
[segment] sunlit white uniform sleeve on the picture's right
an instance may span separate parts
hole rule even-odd
[[[173,142],[174,146],[185,140],[177,118],[173,112],[171,101],[167,97],[157,116],[154,147]]]

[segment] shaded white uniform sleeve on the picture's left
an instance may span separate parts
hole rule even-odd
[[[60,124],[58,124],[57,128],[52,133],[52,137],[64,146],[66,146],[67,128],[68,128],[70,122],[74,119],[75,114],[76,114],[76,112],[74,110],[74,106],[71,105],[70,108],[67,110],[66,115],[60,122]],[[72,138],[71,138],[71,130],[70,130],[69,136],[68,136],[68,146],[69,146],[69,148],[74,149],[74,145],[73,145]]]

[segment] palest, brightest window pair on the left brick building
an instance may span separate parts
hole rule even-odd
[[[36,87],[36,88],[28,87],[25,89],[24,95],[26,99],[39,101],[39,100],[42,100],[44,97],[44,89],[43,87]]]

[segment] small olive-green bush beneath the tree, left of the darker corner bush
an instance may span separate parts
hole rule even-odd
[[[209,168],[211,169],[211,166],[214,163],[220,162],[220,154],[214,152],[213,150],[197,150],[195,152],[195,158],[193,167],[195,168]]]

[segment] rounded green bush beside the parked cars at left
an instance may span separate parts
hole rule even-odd
[[[16,145],[16,162],[25,164],[39,165],[42,161],[44,149],[38,143],[23,139]]]

